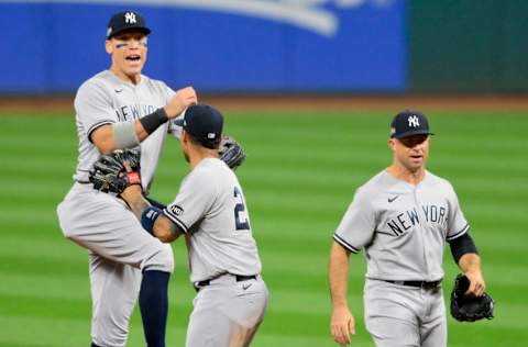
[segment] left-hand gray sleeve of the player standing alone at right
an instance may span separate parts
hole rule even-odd
[[[375,221],[370,197],[360,188],[333,234],[333,239],[348,250],[358,253],[372,240]]]

